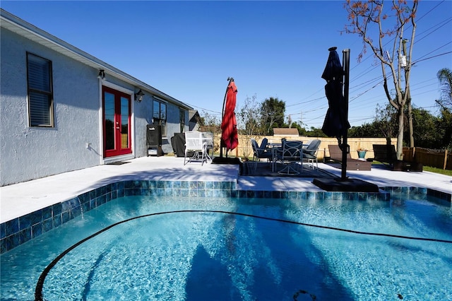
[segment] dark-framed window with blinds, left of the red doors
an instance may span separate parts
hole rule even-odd
[[[54,126],[52,62],[27,53],[30,126]]]

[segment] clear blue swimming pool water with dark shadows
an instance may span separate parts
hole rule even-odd
[[[121,197],[2,254],[1,300],[34,299],[96,232],[45,300],[452,300],[451,243],[363,233],[452,241],[450,204],[424,198]]]

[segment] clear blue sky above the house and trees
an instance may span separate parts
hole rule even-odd
[[[246,98],[284,100],[309,129],[328,109],[328,48],[350,49],[352,125],[386,105],[381,69],[362,40],[341,34],[344,1],[1,1],[6,11],[220,119],[227,78]],[[389,10],[390,2],[387,1]],[[405,35],[410,38],[410,34]],[[387,44],[390,47],[391,43]],[[391,49],[388,49],[391,51]],[[452,1],[420,1],[412,101],[438,114],[439,69],[452,69]],[[380,83],[380,84],[379,84]]]

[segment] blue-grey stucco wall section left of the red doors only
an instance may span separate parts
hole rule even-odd
[[[1,185],[98,165],[95,70],[4,28],[0,42]],[[52,61],[54,128],[28,126],[27,52]],[[87,149],[86,143],[92,148]]]

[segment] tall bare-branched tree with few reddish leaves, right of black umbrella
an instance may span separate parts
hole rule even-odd
[[[403,148],[403,129],[405,105],[411,112],[410,72],[412,65],[412,47],[415,42],[417,0],[408,5],[405,0],[392,0],[390,15],[384,13],[383,0],[345,2],[349,24],[345,25],[345,33],[355,33],[362,37],[363,49],[358,55],[362,59],[369,47],[381,65],[383,88],[389,103],[397,111],[397,158],[401,158]],[[405,25],[411,24],[411,38],[404,38]],[[386,25],[388,25],[386,27]],[[374,41],[372,37],[376,37]],[[387,43],[385,38],[390,38]],[[388,45],[386,47],[386,45]],[[406,48],[408,45],[408,54]],[[389,71],[386,71],[386,69]],[[391,96],[388,81],[392,79],[395,97]],[[404,82],[404,83],[403,83]],[[410,120],[410,117],[408,117]],[[412,129],[412,127],[410,127]]]

